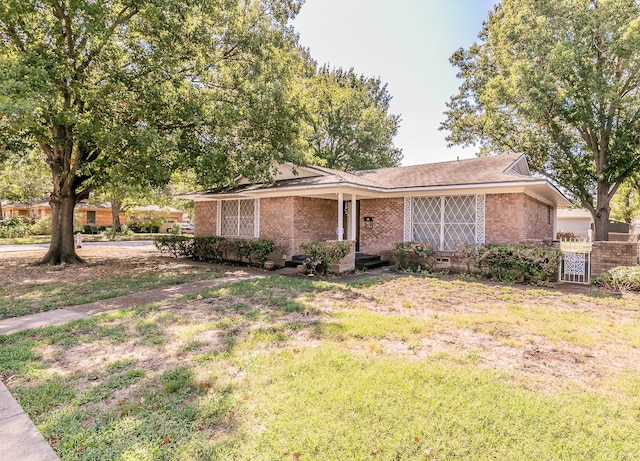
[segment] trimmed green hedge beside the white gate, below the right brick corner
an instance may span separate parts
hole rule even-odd
[[[502,282],[542,283],[554,279],[562,253],[553,247],[492,243],[472,257],[483,277]]]

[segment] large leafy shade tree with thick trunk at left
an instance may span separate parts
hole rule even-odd
[[[296,0],[0,3],[0,144],[34,140],[53,180],[42,262],[80,261],[75,204],[123,159],[131,181],[161,185],[187,162],[187,150],[203,183],[262,172],[276,151],[294,155],[287,147],[296,130],[287,123],[295,101],[280,73],[295,41],[287,22],[299,7]]]

